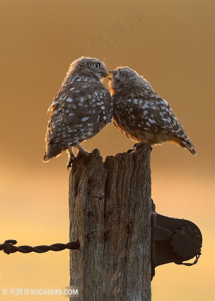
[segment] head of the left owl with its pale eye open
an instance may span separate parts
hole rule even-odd
[[[73,61],[67,72],[68,75],[86,76],[102,80],[108,76],[104,62],[92,57],[80,57]]]

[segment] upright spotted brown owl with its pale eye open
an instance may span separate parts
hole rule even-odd
[[[113,100],[102,84],[108,76],[104,62],[80,57],[68,69],[60,90],[48,109],[43,162],[68,152],[67,169],[75,158],[73,147],[88,154],[80,145],[95,136],[113,116]]]

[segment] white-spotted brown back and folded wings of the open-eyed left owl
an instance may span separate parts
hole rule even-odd
[[[79,82],[61,87],[48,110],[46,143],[61,142],[64,150],[91,138],[111,121],[112,107],[103,84]]]

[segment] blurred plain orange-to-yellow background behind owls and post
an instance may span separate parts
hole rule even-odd
[[[152,300],[214,300],[214,2],[1,1],[1,38],[0,243],[68,242],[67,154],[42,162],[46,111],[75,58],[105,59],[108,70],[127,65],[149,80],[197,151],[151,153],[156,211],[193,221],[203,236],[198,264],[156,268]],[[105,158],[133,144],[111,124],[84,148]],[[10,289],[69,285],[68,250],[0,253],[0,300],[65,300]]]

